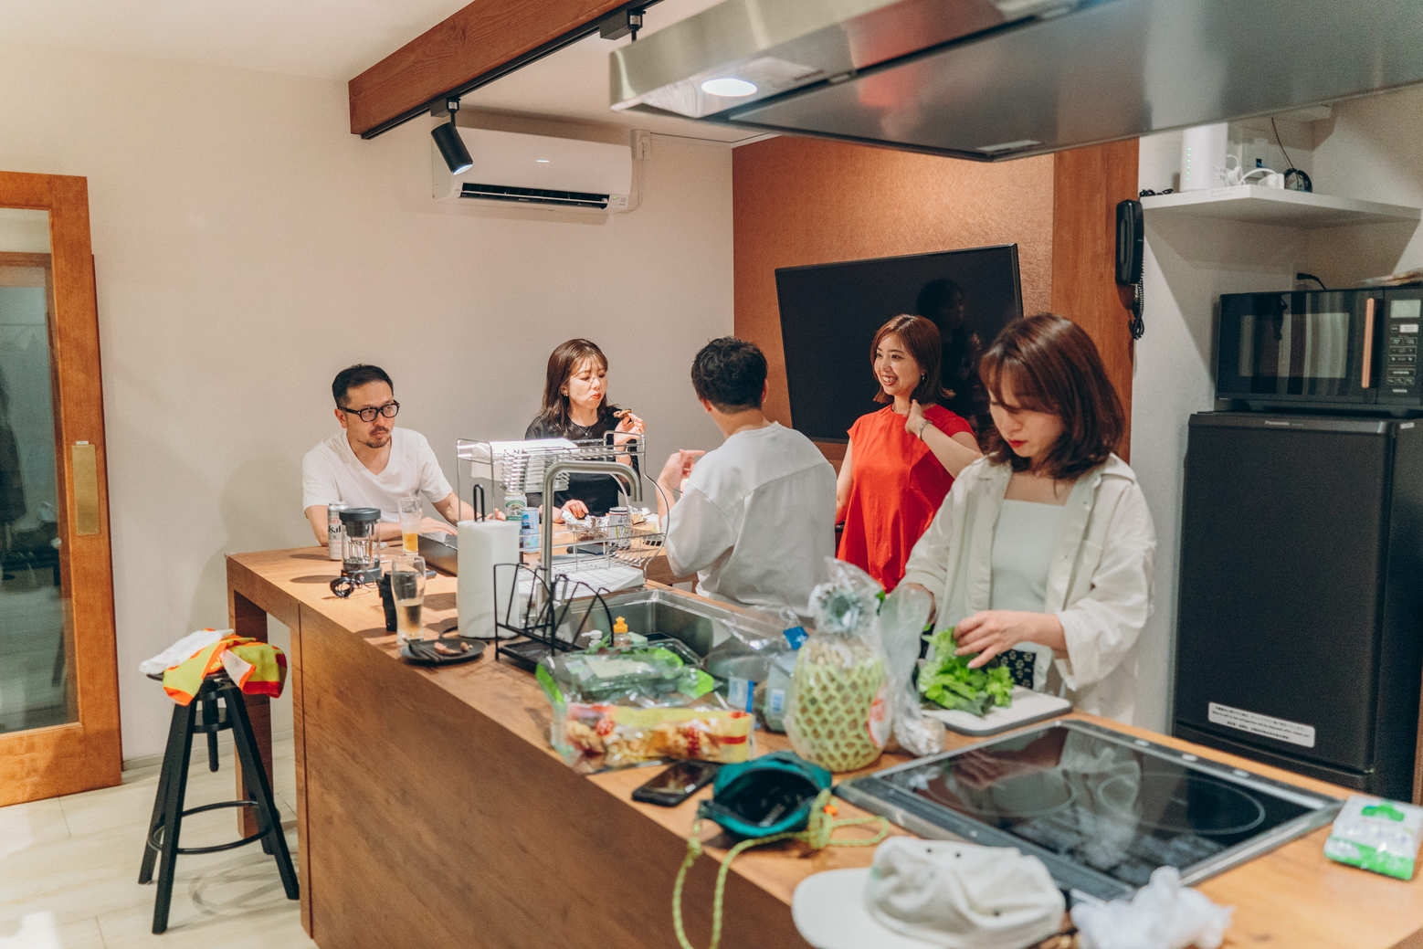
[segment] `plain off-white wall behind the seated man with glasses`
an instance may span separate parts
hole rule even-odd
[[[428,124],[361,141],[340,83],[0,47],[0,169],[88,178],[125,757],[166,727],[137,663],[226,622],[223,555],[312,542],[340,367],[383,364],[448,458],[522,435],[589,336],[655,451],[717,441],[687,367],[731,332],[724,147],[655,137],[642,208],[593,225],[437,208]]]

